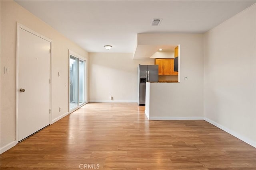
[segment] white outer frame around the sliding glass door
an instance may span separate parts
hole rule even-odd
[[[85,95],[84,95],[84,99],[85,99],[85,102],[84,102],[84,104],[81,104],[80,106],[79,106],[79,101],[78,101],[78,107],[76,107],[75,109],[73,109],[73,110],[71,110],[70,111],[70,71],[69,71],[69,67],[70,67],[70,55],[72,55],[73,57],[75,57],[75,58],[77,58],[78,59],[78,64],[79,64],[79,60],[83,60],[84,62],[85,62],[85,64],[84,64],[84,66],[85,66],[85,68],[84,68],[84,84],[85,84],[85,86],[84,86],[84,93],[85,93]],[[86,61],[86,59],[84,58],[84,57],[82,57],[82,55],[79,55],[78,53],[75,53],[74,51],[71,51],[70,49],[68,50],[68,113],[70,114],[70,113],[72,113],[73,111],[75,111],[75,110],[77,110],[77,109],[79,109],[80,107],[82,107],[82,106],[84,106],[86,103],[87,103],[87,91],[86,91],[86,86],[87,86],[87,61]]]

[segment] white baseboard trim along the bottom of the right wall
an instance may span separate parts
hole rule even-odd
[[[244,141],[245,143],[251,145],[252,147],[256,148],[256,143],[254,141],[248,139],[247,137],[244,137],[244,136],[242,136],[242,135],[240,135],[240,134],[238,134],[238,133],[228,129],[227,127],[224,127],[224,126],[220,125],[219,123],[217,123],[215,121],[212,121],[211,119],[208,119],[206,117],[204,117],[204,120],[209,122],[209,123],[211,123],[212,125],[220,128],[220,129],[222,129],[223,131],[229,133],[230,135],[240,139],[241,141]]]

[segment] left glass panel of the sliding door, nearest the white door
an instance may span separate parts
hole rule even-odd
[[[78,106],[78,59],[70,55],[70,98],[69,108],[70,110]]]

